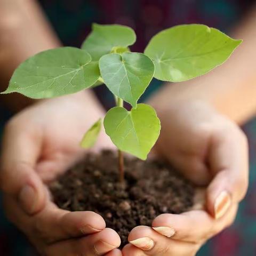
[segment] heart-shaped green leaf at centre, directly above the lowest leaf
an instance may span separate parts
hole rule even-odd
[[[110,53],[99,61],[100,74],[108,89],[136,107],[153,78],[155,67],[143,53]]]

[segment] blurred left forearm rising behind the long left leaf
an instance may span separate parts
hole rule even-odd
[[[4,91],[15,68],[38,52],[60,46],[34,0],[0,0],[0,90]],[[32,102],[19,94],[1,96],[14,110]]]

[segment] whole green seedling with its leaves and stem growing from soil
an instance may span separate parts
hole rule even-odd
[[[225,62],[242,42],[204,25],[165,29],[150,40],[144,53],[130,52],[135,40],[129,27],[93,24],[82,49],[60,47],[34,55],[14,71],[3,92],[42,99],[106,84],[116,107],[107,112],[104,126],[118,148],[121,182],[123,151],[146,159],[159,136],[161,125],[154,108],[137,103],[151,79],[181,82],[201,76]],[[130,103],[130,111],[123,101]],[[98,120],[81,146],[92,147],[100,129]]]

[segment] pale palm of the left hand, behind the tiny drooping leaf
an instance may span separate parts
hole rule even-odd
[[[84,149],[79,146],[79,142],[97,118],[92,111],[86,113],[80,105],[74,102],[61,104],[61,100],[35,105],[18,117],[26,124],[26,129],[31,127],[28,134],[38,143],[40,152],[35,169],[45,182],[67,170],[70,164],[81,157]],[[28,120],[29,123],[26,123]],[[110,146],[107,137],[101,136],[94,149]]]

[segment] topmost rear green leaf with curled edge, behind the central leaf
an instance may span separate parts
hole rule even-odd
[[[92,60],[110,53],[114,47],[122,49],[134,44],[136,35],[133,29],[121,25],[92,25],[91,34],[82,44],[82,49],[91,54]]]

